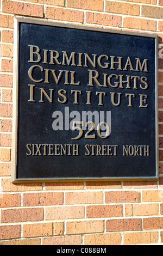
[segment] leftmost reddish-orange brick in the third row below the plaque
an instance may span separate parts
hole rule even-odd
[[[1,222],[42,221],[43,208],[1,210]]]

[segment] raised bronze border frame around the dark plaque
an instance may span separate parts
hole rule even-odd
[[[86,177],[86,178],[26,178],[26,179],[17,179],[16,170],[17,170],[17,120],[18,120],[18,50],[19,50],[19,23],[30,23],[43,26],[54,26],[54,27],[64,27],[64,28],[73,28],[73,29],[83,29],[87,31],[97,31],[105,33],[115,33],[115,34],[125,34],[125,35],[135,35],[143,36],[148,38],[155,38],[155,176],[137,176],[137,177]],[[139,32],[126,32],[126,31],[117,31],[114,29],[107,28],[96,28],[96,27],[87,27],[81,25],[71,25],[69,23],[58,23],[45,20],[36,20],[29,18],[20,18],[14,17],[14,71],[13,71],[13,102],[12,102],[12,145],[11,145],[11,183],[25,183],[25,182],[70,182],[70,181],[152,181],[158,180],[159,178],[159,120],[158,120],[158,35],[155,34],[146,34]]]

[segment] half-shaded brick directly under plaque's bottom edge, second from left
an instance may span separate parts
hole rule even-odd
[[[46,190],[82,190],[83,182],[47,182]]]

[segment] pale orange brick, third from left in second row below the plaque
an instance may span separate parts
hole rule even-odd
[[[67,192],[65,204],[102,204],[103,192]]]

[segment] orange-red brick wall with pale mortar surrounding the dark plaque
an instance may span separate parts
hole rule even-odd
[[[14,16],[159,35],[159,180],[11,184]],[[0,245],[163,243],[163,1],[1,0]]]

